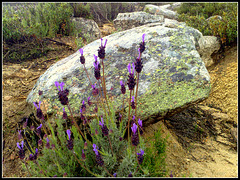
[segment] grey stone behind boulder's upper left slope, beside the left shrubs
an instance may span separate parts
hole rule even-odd
[[[73,17],[71,21],[74,23],[74,28],[77,30],[77,37],[89,38],[92,42],[101,38],[101,31],[97,23],[92,19],[85,19],[82,17]]]

